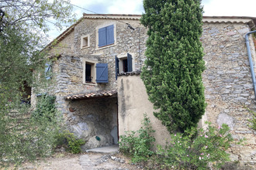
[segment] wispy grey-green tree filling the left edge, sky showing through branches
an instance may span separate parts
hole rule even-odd
[[[47,62],[43,36],[48,22],[61,27],[74,21],[67,0],[0,0],[0,167],[50,155],[57,130],[57,110],[47,98],[40,117],[24,104],[25,87],[37,87],[33,70]],[[44,75],[41,73],[41,75]],[[36,77],[37,78],[37,77]],[[43,100],[45,99],[45,100]],[[43,107],[42,107],[43,106]],[[49,107],[49,108],[47,108]]]

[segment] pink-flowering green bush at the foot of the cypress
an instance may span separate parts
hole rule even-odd
[[[185,131],[187,135],[171,134],[171,141],[165,148],[158,146],[157,162],[161,162],[161,168],[207,169],[209,162],[215,168],[220,168],[230,161],[226,151],[234,144],[228,131],[227,124],[219,128],[209,124],[206,131],[192,128]]]

